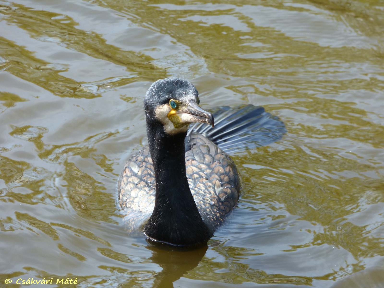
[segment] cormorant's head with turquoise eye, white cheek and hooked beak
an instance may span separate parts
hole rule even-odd
[[[208,123],[213,127],[212,113],[199,106],[198,95],[195,86],[187,80],[157,80],[149,87],[144,98],[147,121],[160,121],[167,134],[185,132],[193,122]]]

